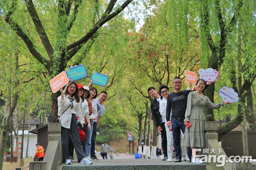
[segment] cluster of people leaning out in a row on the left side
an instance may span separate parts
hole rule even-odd
[[[61,123],[61,142],[63,159],[66,164],[71,164],[75,149],[80,164],[92,164],[98,160],[95,154],[97,126],[104,114],[103,102],[108,94],[102,91],[97,98],[98,91],[95,87],[69,82],[65,89],[59,90],[58,116]],[[79,128],[85,132],[85,139],[81,141]]]

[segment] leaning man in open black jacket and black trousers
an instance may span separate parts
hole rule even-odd
[[[157,129],[161,132],[162,138],[162,148],[163,148],[163,159],[167,160],[167,137],[165,130],[165,118],[163,118],[159,112],[159,102],[162,100],[162,97],[157,93],[157,90],[154,87],[147,89],[148,94],[154,98],[151,102],[151,112]]]

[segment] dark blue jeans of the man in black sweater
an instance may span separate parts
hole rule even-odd
[[[173,136],[173,146],[175,149],[176,158],[181,158],[181,131],[185,133],[186,125],[184,124],[184,119],[171,119],[172,122],[172,136]],[[191,148],[187,147],[187,155],[191,160],[192,151]]]

